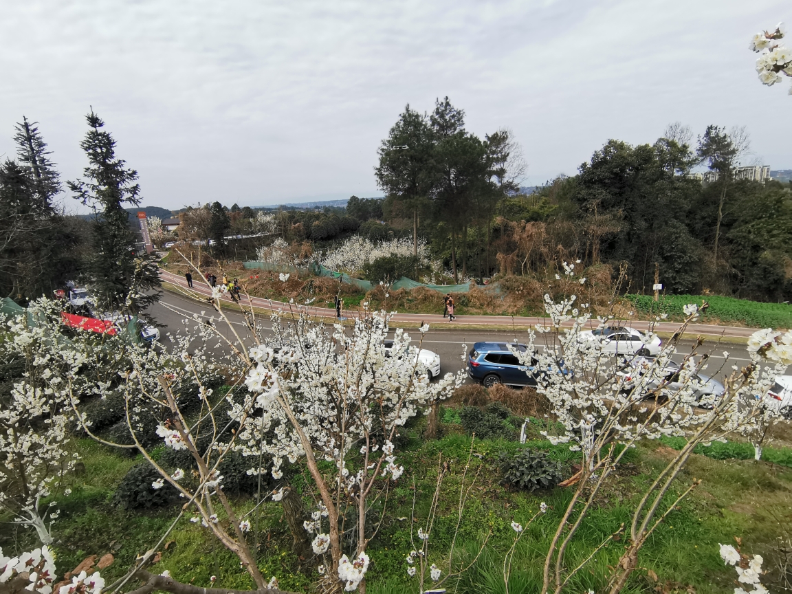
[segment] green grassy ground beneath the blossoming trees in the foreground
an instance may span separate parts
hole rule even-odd
[[[447,409],[443,417],[455,421],[459,417]],[[425,525],[429,502],[434,490],[440,456],[450,463],[444,482],[440,515],[432,531],[430,561],[443,563],[455,526],[455,501],[470,450],[470,437],[455,423],[441,425],[444,436],[440,440],[421,439],[421,418],[401,438],[399,463],[407,469],[388,494],[389,512],[379,534],[371,543],[371,569],[367,574],[368,592],[374,594],[402,594],[416,592],[414,582],[406,575],[406,554],[413,549],[410,543],[410,521],[413,496],[416,500],[413,529]],[[532,421],[527,446],[548,451],[569,471],[576,454],[564,446],[552,446],[539,435],[542,421]],[[170,505],[144,511],[126,511],[113,503],[116,485],[139,459],[119,455],[116,451],[81,439],[74,447],[82,455],[85,471],[70,478],[72,493],[53,497],[62,511],[54,525],[55,550],[59,573],[73,569],[89,554],[108,552],[116,557],[103,574],[118,577],[135,561],[138,554],[154,545],[177,516],[179,508]],[[536,592],[541,582],[544,551],[559,514],[569,501],[569,489],[527,493],[505,488],[500,484],[498,455],[523,447],[514,440],[476,440],[473,445],[475,470],[479,472],[470,504],[464,512],[463,529],[459,535],[455,559],[472,559],[488,531],[493,535],[484,554],[459,581],[456,592],[474,594],[504,592],[501,577],[503,554],[511,546],[512,520],[527,523],[545,501],[550,506],[545,516],[532,524],[517,547],[509,591]],[[579,531],[569,550],[569,565],[577,565],[607,535],[630,517],[630,504],[641,489],[650,484],[654,474],[664,466],[672,447],[680,447],[674,440],[647,443],[630,451],[624,463],[604,489],[596,507]],[[718,449],[719,448],[719,449]],[[777,543],[784,535],[784,526],[792,520],[792,450],[766,448],[764,458],[773,462],[754,462],[752,449],[745,444],[718,444],[693,455],[687,470],[679,479],[678,489],[692,478],[702,478],[695,489],[668,516],[642,550],[641,571],[631,578],[629,592],[653,592],[659,585],[664,592],[725,592],[733,589],[734,572],[724,567],[718,557],[718,543],[731,543],[734,536],[743,539],[743,548],[763,554],[765,567],[770,569],[779,558]],[[301,474],[291,479],[295,488],[303,485]],[[414,489],[413,489],[414,485]],[[240,511],[253,507],[254,497],[237,497],[234,505]],[[44,502],[47,505],[48,502]],[[318,578],[311,559],[300,559],[291,553],[291,537],[280,503],[268,501],[253,514],[254,530],[249,542],[258,551],[258,560],[265,576],[276,576],[282,588],[310,592]],[[209,577],[217,576],[217,584],[227,588],[249,588],[252,583],[239,569],[237,558],[220,546],[200,524],[191,524],[185,516],[162,547],[162,560],[155,565],[157,573],[169,569],[173,577],[196,585],[209,585]],[[8,520],[8,518],[0,518]],[[222,521],[222,517],[221,517]],[[8,554],[32,546],[30,531],[0,531],[0,546]],[[613,543],[596,555],[587,569],[579,573],[569,586],[569,592],[586,592],[589,588],[600,592],[607,583],[608,565],[613,565],[622,551],[620,543]],[[657,574],[657,583],[650,577]],[[764,580],[773,584],[777,573]],[[771,588],[772,590],[773,588]],[[451,592],[452,590],[449,590]],[[688,590],[691,592],[692,590]]]

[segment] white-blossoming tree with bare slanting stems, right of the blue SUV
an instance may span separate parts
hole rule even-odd
[[[573,268],[564,265],[568,287],[576,284]],[[558,421],[556,425],[562,427],[560,432],[545,432],[546,436],[555,444],[569,444],[571,450],[581,451],[583,463],[574,480],[567,482],[573,485],[577,481],[577,490],[550,542],[543,594],[550,590],[561,592],[580,569],[570,572],[565,567],[565,550],[628,448],[634,447],[638,440],[656,440],[662,436],[687,439],[687,444],[661,470],[634,508],[627,527],[626,550],[608,586],[611,594],[616,594],[638,567],[638,551],[646,539],[676,503],[698,484],[693,482],[678,496],[670,496],[675,499],[670,505],[665,501],[695,446],[725,439],[763,414],[771,378],[781,367],[761,367],[760,362],[778,357],[777,352],[786,349],[786,345],[761,340],[764,347],[753,351],[752,364],[743,369],[735,367],[726,379],[725,392],[720,396],[706,395],[702,392],[699,373],[706,369],[708,357],[697,359],[700,339],[678,367],[679,389],[671,389],[666,371],[687,324],[698,317],[698,307],[685,308],[687,320],[683,327],[655,360],[643,361],[641,365],[613,360],[604,352],[604,343],[581,339],[581,331],[592,322],[588,305],[578,307],[574,295],[558,303],[546,296],[545,310],[549,325],[536,326],[529,335],[526,350],[515,350],[515,355],[526,367],[541,372],[539,394],[549,402],[552,418]],[[612,323],[607,317],[599,318],[598,322],[600,329]],[[544,348],[536,344],[538,337],[543,337]],[[652,332],[645,334],[645,342],[652,340]],[[605,539],[588,560],[615,535]]]

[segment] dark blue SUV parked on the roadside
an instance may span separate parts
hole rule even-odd
[[[467,375],[471,379],[492,387],[497,383],[510,386],[535,386],[539,371],[535,371],[537,360],[531,360],[531,366],[520,363],[520,360],[509,350],[525,352],[525,345],[503,342],[477,342],[470,350],[467,358]]]

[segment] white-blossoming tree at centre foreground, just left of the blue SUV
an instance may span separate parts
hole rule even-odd
[[[280,478],[284,460],[304,460],[318,501],[305,527],[316,534],[314,552],[329,555],[326,582],[340,580],[348,592],[365,591],[366,547],[379,527],[367,514],[404,472],[394,445],[400,428],[463,382],[460,371],[429,383],[402,329],[386,350],[388,320],[364,311],[350,335],[341,325],[310,322],[304,312],[288,324],[273,317],[276,338],[250,350],[251,395],[231,413],[243,453],[267,456],[267,466],[253,471]],[[254,414],[246,412],[251,407]],[[347,521],[354,531],[344,531]]]

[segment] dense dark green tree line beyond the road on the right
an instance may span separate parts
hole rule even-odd
[[[651,291],[656,268],[675,293],[792,297],[792,185],[739,179],[743,128],[668,126],[654,143],[611,139],[530,196],[520,147],[504,128],[484,139],[448,98],[432,114],[409,105],[379,147],[384,218],[412,227],[457,279],[549,274],[562,261],[624,268]],[[695,169],[717,175],[702,181]],[[714,176],[713,176],[714,177]]]

